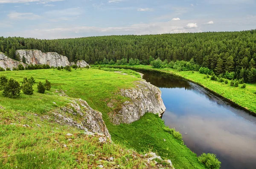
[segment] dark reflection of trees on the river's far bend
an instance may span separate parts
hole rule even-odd
[[[172,74],[166,74],[155,71],[136,70],[137,72],[143,73],[143,79],[147,80],[154,86],[159,88],[185,88],[191,89],[187,80],[183,80],[181,77],[174,76]]]

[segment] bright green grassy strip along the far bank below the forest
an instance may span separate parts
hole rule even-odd
[[[101,65],[101,66],[113,67],[113,65]],[[221,83],[218,81],[210,80],[209,78],[204,78],[206,76],[205,74],[200,74],[199,72],[195,72],[195,71],[178,72],[177,70],[171,69],[171,68],[156,69],[156,68],[152,68],[152,66],[145,66],[145,65],[136,65],[136,66],[114,65],[114,67],[154,70],[158,72],[175,74],[193,83],[197,83],[198,85],[210,90],[211,92],[214,92],[217,95],[220,95],[221,97],[224,97],[228,101],[235,103],[240,108],[245,109],[254,115],[256,114],[256,97],[255,97],[256,85],[254,84],[246,84],[246,88],[241,89],[241,84],[239,84],[239,87],[233,87],[233,86],[230,86],[230,80],[228,80],[229,82],[228,84],[225,84],[224,82]]]

